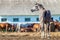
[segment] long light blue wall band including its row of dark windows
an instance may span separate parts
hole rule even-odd
[[[60,21],[60,15],[52,15],[54,21]],[[0,16],[0,23],[39,23],[38,15]]]

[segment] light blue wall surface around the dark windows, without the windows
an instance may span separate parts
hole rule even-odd
[[[60,16],[52,16],[54,20],[59,20]],[[31,20],[29,22],[39,22],[37,21],[37,18],[39,18],[38,15],[36,16],[0,16],[0,22],[1,22],[1,18],[7,18],[8,22],[13,22],[13,18],[19,18],[18,22],[25,22],[25,18],[30,18]],[[59,20],[60,21],[60,20]]]

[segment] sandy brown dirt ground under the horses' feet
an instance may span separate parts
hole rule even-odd
[[[50,39],[40,38],[39,32],[13,32],[13,33],[0,33],[0,40],[60,40],[60,32],[51,33]]]

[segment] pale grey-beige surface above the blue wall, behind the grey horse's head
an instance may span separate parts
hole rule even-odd
[[[39,15],[38,11],[30,11],[36,2],[52,14],[60,14],[60,0],[0,0],[0,15]]]

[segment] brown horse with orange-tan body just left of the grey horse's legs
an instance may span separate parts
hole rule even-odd
[[[31,26],[29,25],[27,28],[21,28],[21,32],[36,32],[40,31],[40,25],[39,23],[33,23]]]

